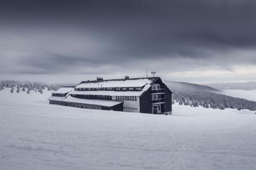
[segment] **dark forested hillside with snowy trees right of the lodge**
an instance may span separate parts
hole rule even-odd
[[[225,108],[256,110],[256,102],[221,94],[220,90],[209,86],[173,81],[165,81],[165,84],[173,92],[172,103],[223,110]]]

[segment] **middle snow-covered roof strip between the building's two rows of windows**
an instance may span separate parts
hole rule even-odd
[[[119,95],[119,96],[140,96],[144,91],[150,88],[151,85],[147,84],[141,91],[104,91],[104,90],[97,90],[97,91],[77,91],[73,90],[70,94],[87,94],[87,95]]]

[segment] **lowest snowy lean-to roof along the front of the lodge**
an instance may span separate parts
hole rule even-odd
[[[100,106],[115,106],[122,102],[118,101],[105,101],[105,100],[93,100],[93,99],[80,99],[80,98],[73,98],[69,95],[63,102],[74,102],[74,103],[82,103],[82,104],[90,104],[90,105],[100,105]]]

